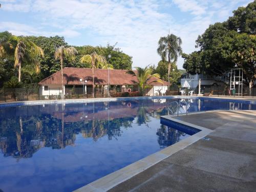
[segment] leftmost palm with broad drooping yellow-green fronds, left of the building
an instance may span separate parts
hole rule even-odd
[[[40,63],[36,57],[43,57],[44,51],[35,45],[34,42],[25,37],[15,35],[0,40],[0,57],[11,54],[13,51],[14,67],[18,67],[18,82],[20,82],[22,76],[22,62],[25,60],[34,63],[37,69],[36,72],[39,72]]]

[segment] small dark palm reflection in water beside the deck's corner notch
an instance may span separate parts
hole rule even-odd
[[[160,147],[165,148],[166,146],[179,142],[180,137],[186,134],[171,127],[161,125],[160,129],[157,130],[157,135]]]

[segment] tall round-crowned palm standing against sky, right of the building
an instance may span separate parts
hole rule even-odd
[[[158,41],[159,47],[157,49],[157,53],[162,57],[163,61],[165,61],[166,58],[168,59],[168,84],[170,84],[170,64],[171,62],[176,62],[178,56],[182,54],[181,44],[181,38],[174,34],[168,34],[166,37],[160,37]]]

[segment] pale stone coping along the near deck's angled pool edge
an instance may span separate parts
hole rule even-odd
[[[219,111],[219,110],[216,110]],[[211,111],[212,112],[212,111]],[[197,113],[197,112],[196,112]],[[205,112],[198,112],[198,113],[205,113]],[[206,112],[207,113],[207,112]],[[195,113],[191,113],[195,114]],[[184,114],[185,115],[185,114]],[[190,115],[190,114],[188,114]],[[149,156],[144,157],[143,159],[140,159],[130,165],[127,165],[121,169],[116,170],[115,172],[108,174],[104,177],[101,177],[87,185],[84,185],[76,190],[75,192],[80,191],[107,191],[116,185],[131,179],[132,177],[136,176],[137,174],[143,172],[145,169],[150,168],[151,166],[159,163],[160,161],[172,156],[173,154],[177,153],[180,150],[183,150],[183,148],[195,143],[196,141],[204,138],[211,132],[214,132],[214,130],[207,129],[206,127],[198,126],[192,123],[188,123],[179,119],[175,119],[170,115],[161,116],[161,118],[174,121],[177,123],[184,124],[186,126],[193,127],[195,129],[201,130],[200,132],[189,136],[173,145],[170,145],[163,150],[160,150],[159,152],[156,152],[154,154],[151,154]]]

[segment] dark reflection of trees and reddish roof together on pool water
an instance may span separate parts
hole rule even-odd
[[[94,141],[103,136],[118,139],[121,127],[147,123],[150,116],[160,118],[165,106],[145,100],[66,104],[65,108],[59,105],[58,111],[55,104],[10,108],[10,113],[0,113],[0,148],[4,156],[20,159],[32,157],[42,147],[73,145],[77,134]]]

